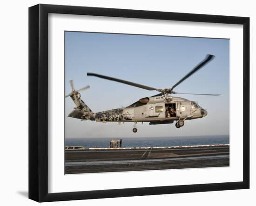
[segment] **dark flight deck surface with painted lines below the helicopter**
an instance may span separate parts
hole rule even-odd
[[[229,166],[229,146],[66,151],[66,174]]]

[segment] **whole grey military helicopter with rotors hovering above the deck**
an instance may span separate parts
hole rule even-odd
[[[74,82],[70,80],[72,92],[65,97],[71,97],[76,107],[68,114],[68,117],[80,120],[91,120],[96,122],[134,122],[132,131],[138,131],[136,124],[138,122],[149,122],[149,125],[172,124],[176,121],[176,128],[184,126],[185,120],[194,120],[205,117],[208,113],[206,109],[202,108],[195,101],[187,100],[181,97],[174,97],[172,94],[193,94],[193,95],[210,95],[218,96],[220,94],[201,94],[201,93],[178,93],[173,89],[181,84],[184,80],[189,78],[192,74],[197,72],[203,66],[208,64],[214,59],[214,55],[207,54],[205,59],[196,65],[189,73],[187,73],[181,80],[179,80],[171,88],[158,89],[150,86],[137,84],[134,82],[121,80],[109,76],[104,76],[97,73],[87,73],[87,76],[94,76],[106,80],[112,80],[119,83],[127,84],[130,86],[139,87],[142,89],[157,91],[158,94],[151,97],[144,97],[135,103],[117,109],[111,109],[103,112],[94,113],[92,110],[81,100],[81,91],[88,89],[90,86],[85,86],[79,90],[74,89]]]

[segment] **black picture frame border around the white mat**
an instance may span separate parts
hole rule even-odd
[[[243,181],[48,193],[48,14],[80,14],[243,25]],[[39,4],[29,8],[29,199],[38,202],[249,188],[249,18]]]

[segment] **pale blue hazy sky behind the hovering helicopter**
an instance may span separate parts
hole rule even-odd
[[[202,119],[185,120],[179,129],[175,124],[98,123],[69,118],[75,107],[65,99],[66,138],[97,137],[171,137],[229,134],[229,40],[192,37],[152,36],[136,34],[65,32],[65,93],[71,91],[69,80],[81,99],[96,113],[129,106],[158,92],[87,76],[99,73],[155,88],[170,88],[207,54],[214,60],[202,67],[179,86],[176,92],[213,93],[221,96],[175,94],[198,102],[207,110]]]

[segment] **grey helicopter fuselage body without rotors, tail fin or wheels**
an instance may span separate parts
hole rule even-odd
[[[173,107],[175,113],[167,115],[167,109]],[[146,97],[130,106],[95,113],[98,122],[168,122],[174,120],[191,120],[207,115],[206,110],[194,101],[180,97],[156,96]],[[92,120],[92,119],[91,119]]]

